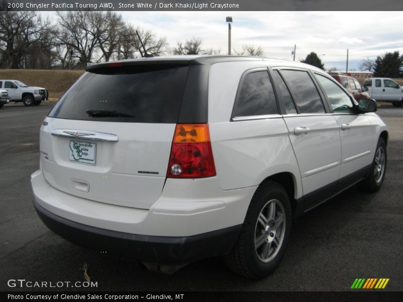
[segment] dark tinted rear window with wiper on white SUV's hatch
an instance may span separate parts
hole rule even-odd
[[[176,123],[188,69],[187,65],[138,65],[91,70],[63,95],[49,116],[91,121]],[[103,113],[94,117],[86,112],[88,110]],[[112,116],[105,116],[107,112],[113,112]]]

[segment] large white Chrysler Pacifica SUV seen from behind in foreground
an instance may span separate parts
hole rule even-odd
[[[310,65],[143,58],[87,67],[40,130],[43,222],[73,243],[174,267],[225,255],[261,278],[292,219],[381,186],[387,127]]]

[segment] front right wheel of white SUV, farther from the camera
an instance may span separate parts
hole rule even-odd
[[[380,158],[383,158],[382,162]],[[386,143],[382,137],[379,137],[378,144],[376,145],[375,156],[371,164],[371,170],[361,183],[360,188],[368,192],[376,192],[382,186],[383,180],[385,179],[386,173]],[[379,174],[379,169],[382,169],[381,174]]]

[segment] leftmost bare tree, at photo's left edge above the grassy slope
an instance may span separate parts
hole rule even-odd
[[[0,11],[0,66],[23,66],[30,46],[41,41],[49,24],[35,12]]]

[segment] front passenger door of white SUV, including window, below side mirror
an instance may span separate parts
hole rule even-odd
[[[340,127],[342,163],[338,190],[361,180],[372,162],[373,133],[365,114],[354,112],[353,100],[330,78],[315,73],[315,78],[327,98],[333,117]]]

